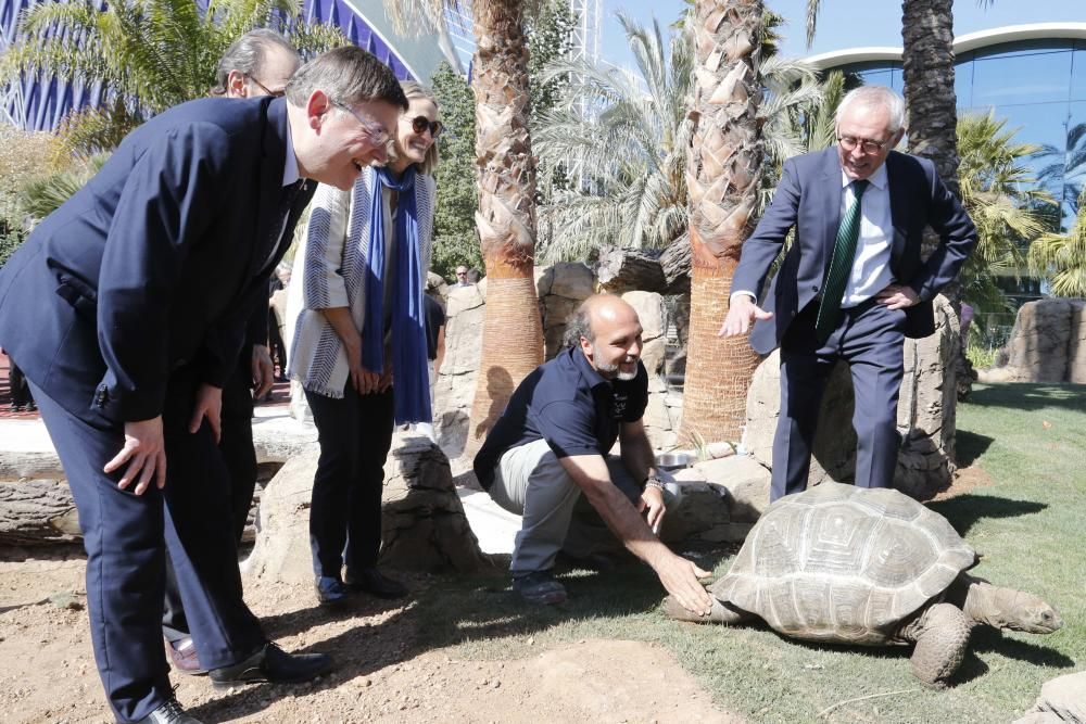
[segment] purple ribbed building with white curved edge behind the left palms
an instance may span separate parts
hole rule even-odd
[[[39,0],[0,0],[0,51],[20,42],[18,16]],[[206,0],[197,0],[206,7]],[[96,0],[99,8],[105,0]],[[405,37],[397,34],[383,0],[304,0],[302,16],[310,22],[338,25],[356,46],[377,55],[402,79],[427,80],[443,60],[454,67],[458,59],[447,35]],[[77,42],[73,39],[73,42]],[[68,84],[56,78],[28,79],[0,89],[0,120],[25,130],[53,130],[71,111],[98,104],[96,87]]]

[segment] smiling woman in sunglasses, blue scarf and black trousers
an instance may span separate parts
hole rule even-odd
[[[318,188],[295,258],[304,308],[288,358],[320,439],[310,542],[323,605],[407,594],[377,570],[381,491],[393,427],[432,419],[422,294],[441,123],[429,90],[403,89],[388,165],[364,168],[351,192]]]

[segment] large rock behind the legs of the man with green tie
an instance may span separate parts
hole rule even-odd
[[[943,296],[936,299],[935,319],[934,334],[906,340],[905,377],[897,408],[902,442],[894,485],[919,499],[945,490],[955,470],[954,359],[959,345],[958,317]],[[772,468],[773,434],[780,415],[780,352],[775,351],[755,371],[747,394],[743,445],[768,468]],[[822,398],[808,485],[824,480],[853,482],[856,470],[853,407],[851,377],[848,367],[838,363]]]

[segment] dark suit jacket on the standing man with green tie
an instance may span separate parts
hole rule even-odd
[[[927,158],[891,151],[886,174],[894,227],[891,271],[897,283],[911,287],[921,300],[906,309],[906,335],[927,336],[935,331],[932,300],[957,276],[976,243],[976,229]],[[792,320],[821,291],[841,224],[841,188],[836,147],[790,158],[772,203],[743,244],[732,290],[750,291],[761,299],[770,266],[788,231],[796,230],[795,242],[761,302],[773,318],[757,322],[750,334],[750,346],[759,354],[780,345]],[[921,261],[929,226],[939,234],[940,243]]]

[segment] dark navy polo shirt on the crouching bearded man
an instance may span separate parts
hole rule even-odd
[[[545,440],[559,457],[607,455],[622,422],[636,422],[648,404],[648,372],[637,363],[632,380],[606,380],[580,347],[567,347],[525,378],[475,457],[479,483],[489,488],[494,468],[512,448]]]

